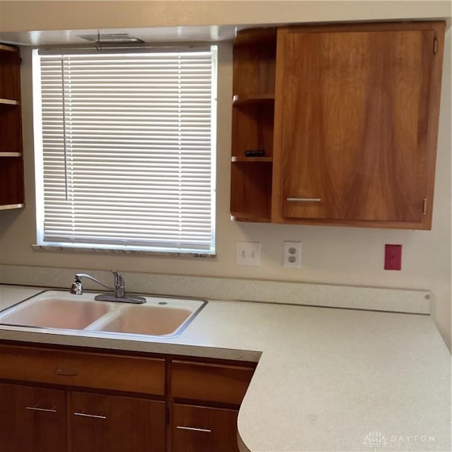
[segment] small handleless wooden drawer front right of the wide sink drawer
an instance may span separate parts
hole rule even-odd
[[[173,361],[172,397],[240,405],[253,372],[251,367]]]

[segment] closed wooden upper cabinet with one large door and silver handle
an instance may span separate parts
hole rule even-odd
[[[272,221],[430,229],[444,23],[281,28]]]

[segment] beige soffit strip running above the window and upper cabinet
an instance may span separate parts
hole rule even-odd
[[[451,15],[448,0],[0,0],[0,8],[1,31],[444,18]]]

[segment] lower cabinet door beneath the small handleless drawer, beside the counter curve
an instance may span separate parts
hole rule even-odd
[[[173,405],[172,452],[235,452],[237,410]]]

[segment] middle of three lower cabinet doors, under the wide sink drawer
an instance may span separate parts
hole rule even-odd
[[[72,452],[165,452],[165,402],[71,393]]]

